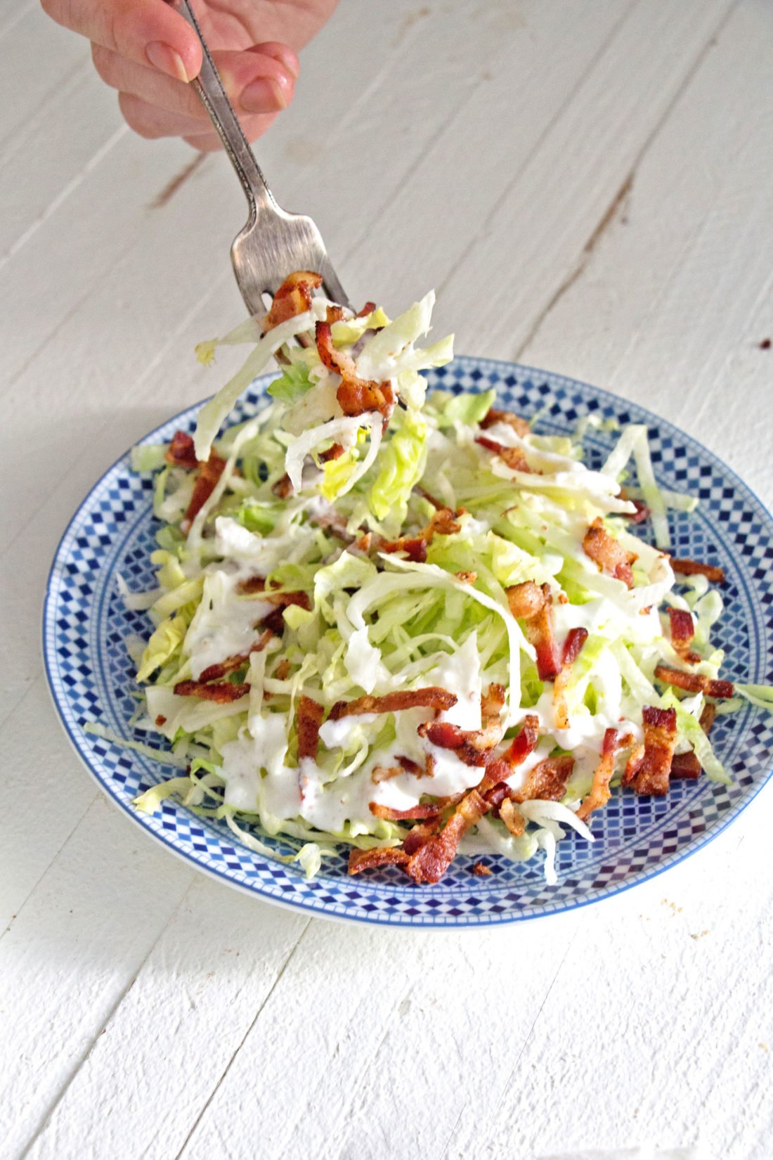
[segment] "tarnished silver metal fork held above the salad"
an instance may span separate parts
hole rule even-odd
[[[321,274],[322,288],[328,298],[349,306],[314,222],[298,213],[287,213],[277,205],[226,96],[194,9],[188,0],[170,0],[170,7],[185,17],[202,42],[204,61],[191,86],[212,118],[247,195],[249,218],[231,247],[231,261],[247,310],[250,314],[264,313],[263,295],[272,297],[294,270],[315,270]]]

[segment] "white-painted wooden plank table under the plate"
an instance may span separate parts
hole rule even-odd
[[[35,3],[0,53],[0,1154],[767,1160],[772,791],[600,906],[432,935],[242,897],[95,790],[42,675],[46,568],[212,389],[191,348],[240,317],[245,212]],[[302,67],[258,153],[356,300],[435,287],[460,351],[611,386],[773,500],[770,0],[343,0]]]

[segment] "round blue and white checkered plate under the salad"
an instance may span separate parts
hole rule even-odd
[[[429,377],[433,386],[454,391],[496,386],[503,406],[526,418],[539,415],[537,429],[544,433],[570,434],[586,414],[647,423],[658,480],[701,501],[692,515],[671,516],[674,554],[716,561],[725,571],[725,611],[715,639],[727,650],[727,675],[756,683],[773,679],[773,520],[715,456],[641,407],[559,375],[460,357]],[[247,418],[268,382],[270,376],[254,384],[234,421]],[[197,409],[191,407],[144,442],[169,440],[177,428],[192,430]],[[601,462],[614,438],[589,428],[591,466]],[[151,479],[132,474],[125,455],[75,513],[57,551],[45,599],[48,676],[70,739],[105,792],[148,833],[231,885],[313,914],[392,926],[490,926],[553,914],[643,882],[705,846],[771,774],[773,718],[751,706],[717,718],[712,741],[734,784],[716,785],[705,777],[680,781],[666,798],[618,791],[592,815],[596,842],[570,835],[560,843],[554,887],[542,877],[541,855],[520,864],[488,857],[488,878],[472,875],[475,860],[459,857],[436,886],[416,887],[396,868],[349,878],[342,854],[324,860],[319,877],[306,882],[298,865],[258,857],[224,822],[197,818],[173,802],[165,802],[158,814],[139,814],[132,798],[174,770],[85,733],[83,725],[100,722],[132,735],[126,724],[134,708],[132,666],[124,638],[147,635],[147,619],[126,611],[116,573],[132,588],[153,586],[151,491]],[[290,853],[282,841],[264,840],[278,854]]]

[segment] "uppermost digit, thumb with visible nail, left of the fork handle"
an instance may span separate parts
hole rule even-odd
[[[192,80],[202,67],[202,46],[185,19],[165,0],[42,0],[65,28],[138,65],[176,80]]]

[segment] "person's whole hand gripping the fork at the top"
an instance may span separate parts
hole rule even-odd
[[[331,15],[337,0],[195,0],[196,19],[249,140],[292,101],[296,53]],[[221,148],[198,96],[202,46],[165,0],[42,0],[59,24],[87,36],[94,66],[140,137],[182,137]]]

